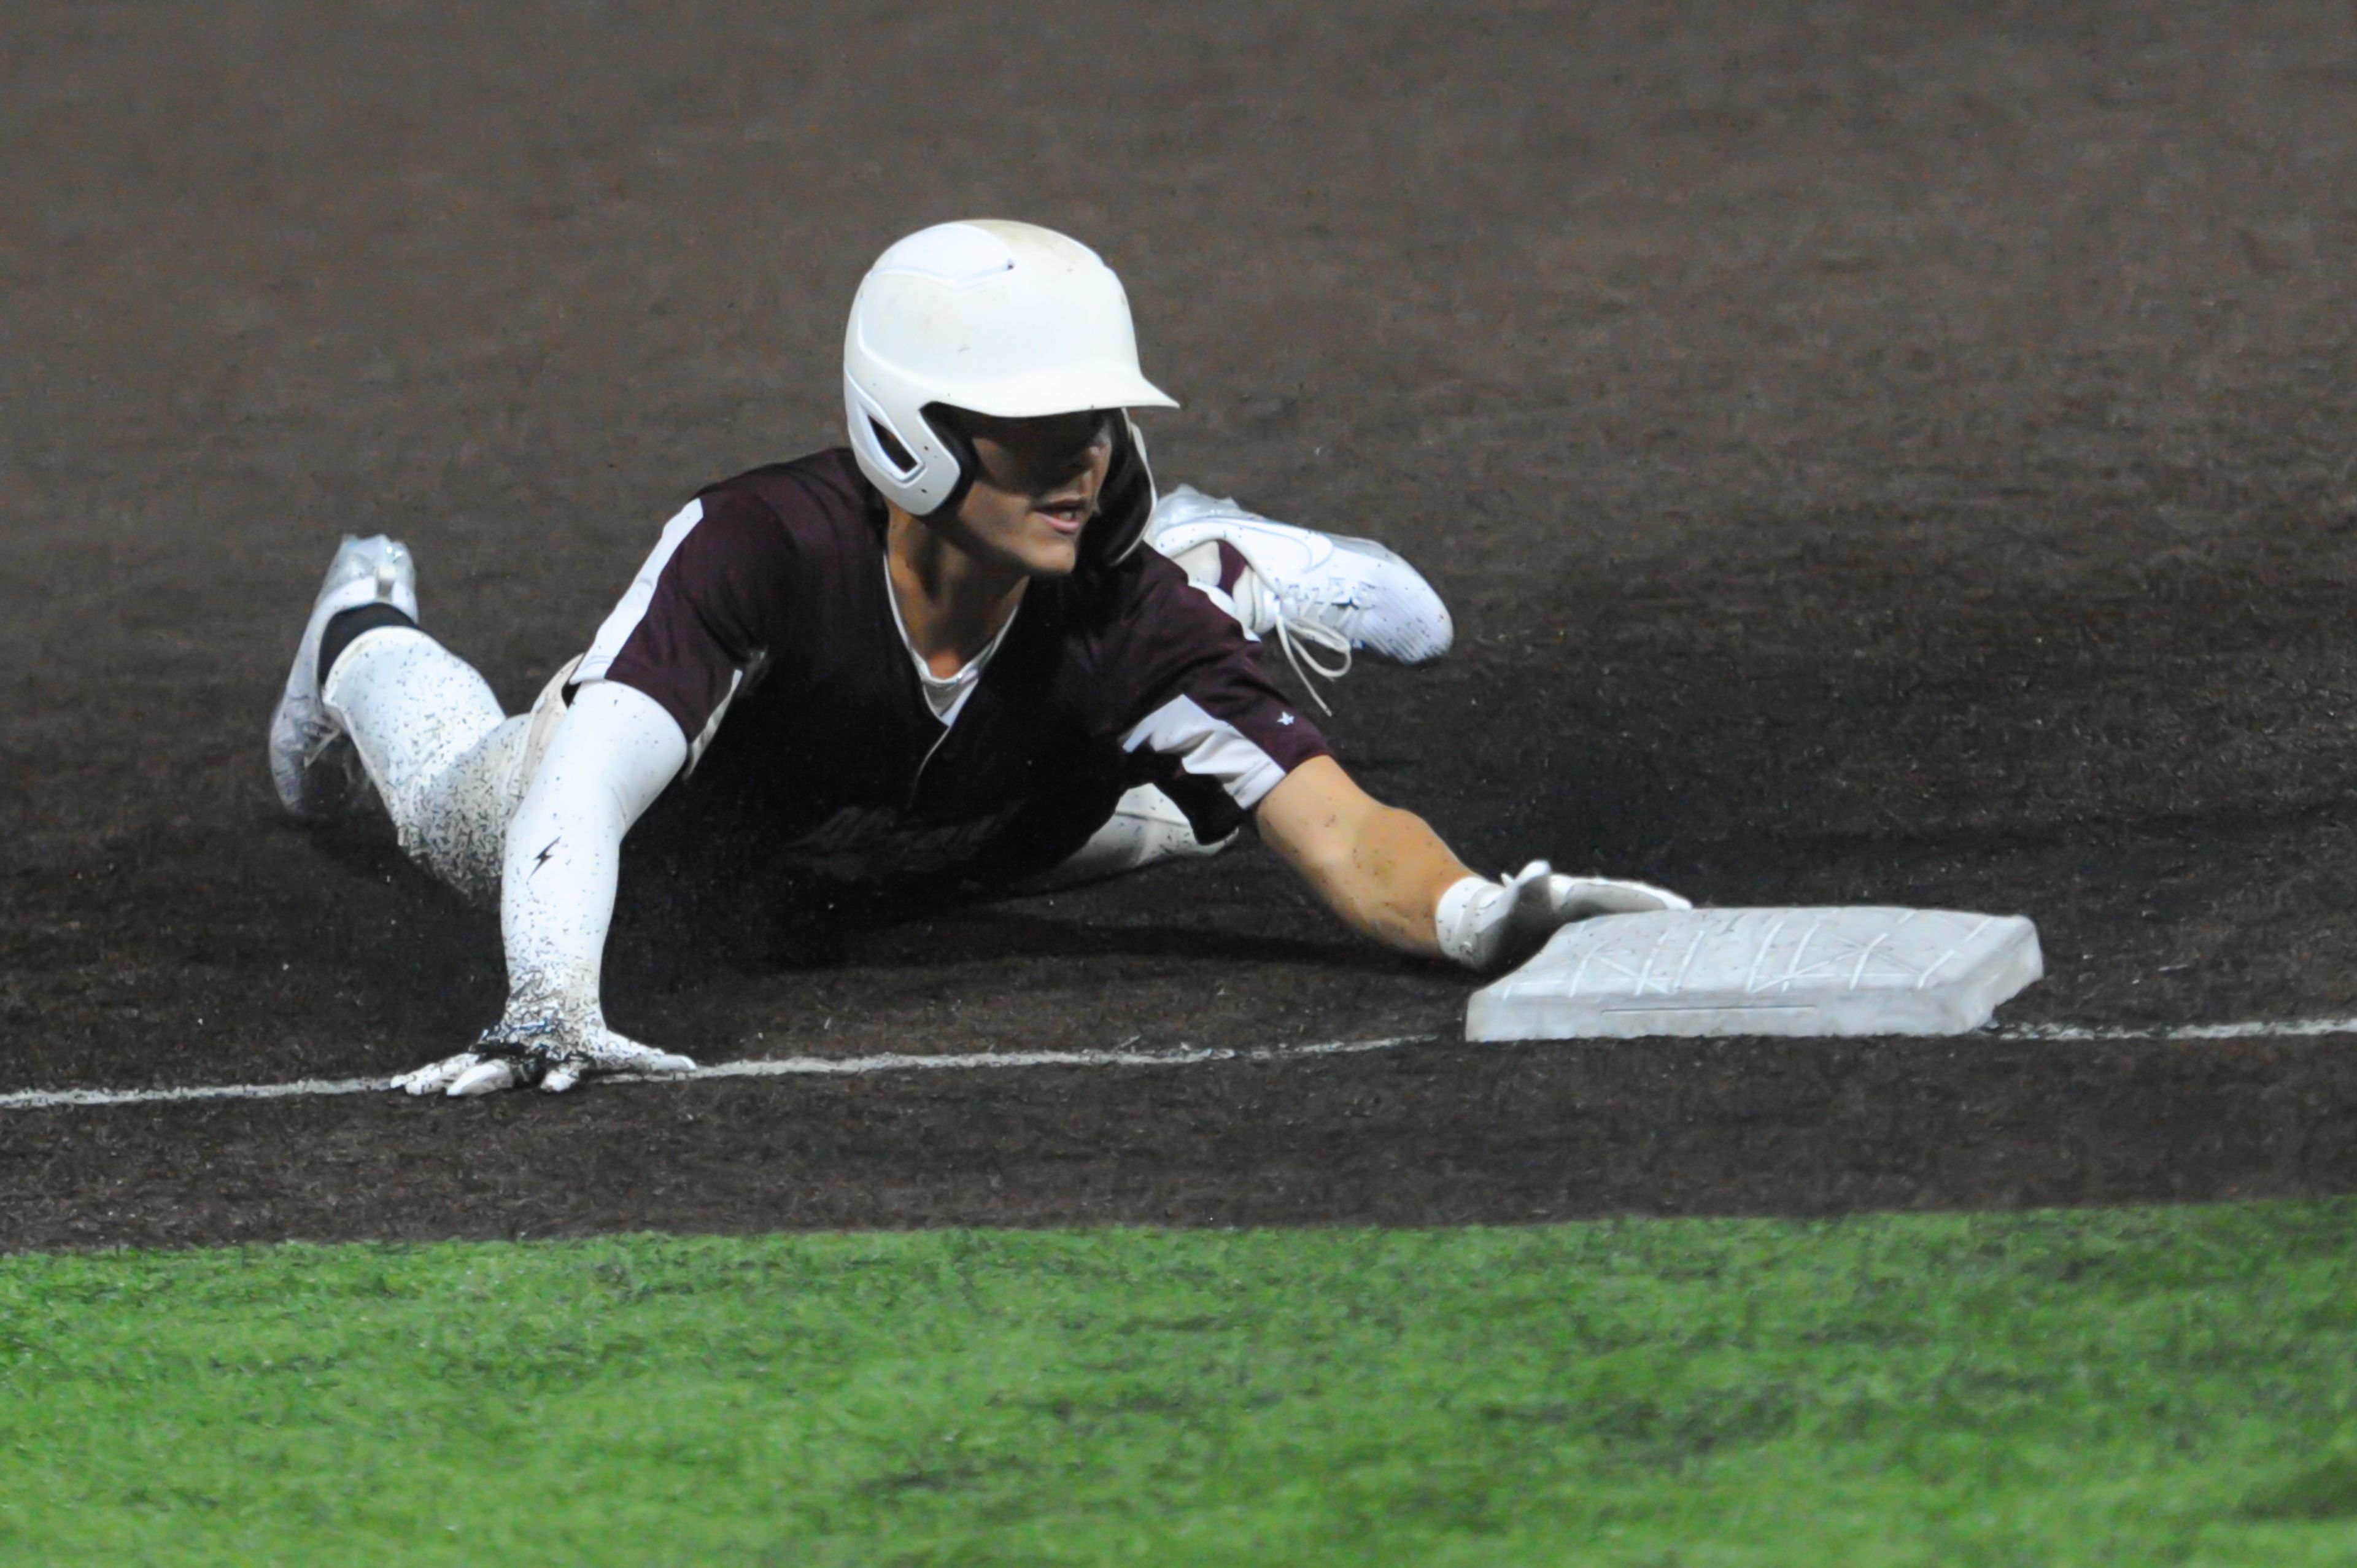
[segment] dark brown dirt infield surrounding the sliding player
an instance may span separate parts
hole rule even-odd
[[[1475,863],[2022,910],[2011,1016],[2357,1012],[2345,7],[12,5],[0,1089],[382,1073],[495,924],[278,818],[339,531],[521,705],[698,483],[834,441],[893,236],[1096,243],[1157,467],[1428,571],[1332,733]],[[1273,861],[759,950],[712,1056],[1447,1030]],[[0,1118],[0,1245],[1537,1219],[2357,1188],[2357,1040],[1428,1047]]]

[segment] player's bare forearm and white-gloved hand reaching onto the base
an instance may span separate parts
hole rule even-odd
[[[1565,877],[1546,861],[1497,882],[1475,877],[1421,816],[1374,799],[1332,757],[1287,773],[1261,799],[1256,825],[1343,924],[1468,969],[1516,964],[1589,915],[1688,908],[1659,887]]]

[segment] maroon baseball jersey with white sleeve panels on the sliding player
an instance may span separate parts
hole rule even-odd
[[[787,861],[851,882],[1049,870],[1138,783],[1214,842],[1327,752],[1242,627],[1153,549],[1032,580],[943,722],[849,450],[688,502],[599,627],[575,674],[592,679],[662,703],[691,773],[750,788]]]

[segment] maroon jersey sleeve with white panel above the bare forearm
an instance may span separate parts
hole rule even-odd
[[[1122,752],[1134,783],[1186,811],[1195,837],[1235,832],[1287,773],[1329,747],[1263,672],[1259,646],[1186,575],[1148,561],[1115,644]]]

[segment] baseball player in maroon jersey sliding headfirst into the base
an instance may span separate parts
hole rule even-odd
[[[271,719],[278,795],[323,821],[375,790],[412,861],[497,901],[507,948],[502,1019],[398,1082],[693,1070],[606,1028],[599,967],[622,837],[665,790],[693,811],[698,771],[752,790],[790,861],[940,889],[1117,875],[1249,823],[1343,924],[1473,969],[1683,908],[1539,861],[1478,877],[1351,783],[1254,644],[1303,674],[1421,663],[1447,608],[1379,545],[1157,498],[1129,410],[1174,406],[1091,250],[940,224],[853,299],[849,450],[695,495],[530,712],[417,630],[403,545],[344,540]]]

